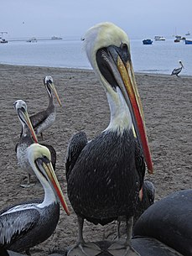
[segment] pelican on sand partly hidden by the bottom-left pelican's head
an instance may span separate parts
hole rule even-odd
[[[19,142],[15,147],[15,151],[17,154],[18,165],[27,172],[28,181],[27,185],[22,184],[21,186],[27,187],[30,186],[30,175],[34,175],[34,171],[29,165],[29,159],[27,156],[27,148],[34,143],[38,142],[38,138],[34,132],[34,128],[29,119],[29,114],[27,110],[27,104],[22,100],[18,100],[13,103],[13,107],[18,113],[18,119],[22,124],[22,134],[20,136]],[[51,161],[55,170],[55,162],[56,162],[56,152],[51,145],[43,144],[46,146],[51,153]]]

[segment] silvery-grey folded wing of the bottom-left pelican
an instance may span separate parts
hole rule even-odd
[[[29,232],[39,220],[39,212],[26,209],[0,216],[0,245],[13,244]]]

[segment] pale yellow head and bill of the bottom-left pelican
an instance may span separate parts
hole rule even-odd
[[[64,207],[65,212],[67,215],[70,215],[59,181],[54,174],[49,149],[40,144],[31,144],[27,150],[29,163],[35,175],[44,186],[44,190],[48,187],[49,183],[52,191],[54,191],[54,195],[56,198],[59,198],[61,205]]]

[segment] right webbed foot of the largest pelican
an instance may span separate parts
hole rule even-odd
[[[112,256],[141,256],[125,239],[119,239],[107,249]]]

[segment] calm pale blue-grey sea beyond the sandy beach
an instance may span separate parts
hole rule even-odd
[[[143,39],[130,39],[132,65],[135,72],[167,74],[179,67],[182,60],[184,69],[180,75],[192,76],[192,44],[184,41],[174,43],[174,38],[143,44]],[[36,65],[91,69],[80,39],[39,39],[8,41],[0,44],[0,64]]]

